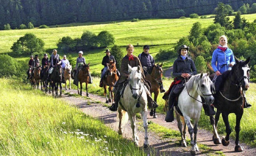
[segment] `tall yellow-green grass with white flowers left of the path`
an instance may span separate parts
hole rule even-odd
[[[61,99],[0,79],[0,155],[146,155]]]

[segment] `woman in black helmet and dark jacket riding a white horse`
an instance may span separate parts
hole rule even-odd
[[[169,108],[166,113],[166,122],[172,122],[174,120],[173,107],[175,104],[175,98],[178,94],[174,93],[178,84],[184,84],[190,79],[192,75],[196,75],[196,66],[193,60],[188,56],[189,47],[186,45],[180,46],[178,50],[178,58],[174,61],[172,75],[175,77],[174,81],[170,85],[169,90],[164,93],[164,97],[169,95]],[[164,98],[163,97],[163,98]]]

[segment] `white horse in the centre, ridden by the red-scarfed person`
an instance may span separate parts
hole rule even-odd
[[[147,122],[147,92],[148,89],[144,84],[141,82],[142,80],[142,73],[140,66],[138,67],[131,67],[128,65],[130,79],[128,85],[124,88],[123,97],[120,97],[119,105],[118,105],[118,116],[119,116],[119,130],[118,133],[122,135],[122,122],[123,124],[127,122],[127,113],[129,119],[131,121],[131,128],[132,128],[132,139],[136,146],[138,146],[138,136],[136,135],[136,124],[135,115],[137,113],[141,113],[143,119],[143,127],[145,130],[144,136],[144,148],[148,147],[148,122]]]

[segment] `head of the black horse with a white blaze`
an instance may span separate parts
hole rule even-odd
[[[248,66],[250,62],[250,57],[246,61],[238,60],[235,57],[236,64],[231,70],[231,80],[235,82],[238,86],[241,86],[243,90],[248,90],[250,84],[250,68]]]

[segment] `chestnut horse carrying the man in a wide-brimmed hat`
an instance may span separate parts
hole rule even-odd
[[[116,72],[116,64],[114,62],[110,62],[107,64],[108,66],[108,76],[103,80],[103,88],[104,88],[104,96],[106,96],[106,103],[109,102],[114,103],[114,97],[113,97],[113,88],[114,84],[118,80],[117,72]],[[108,86],[108,92],[109,92],[109,98],[107,95],[107,86]]]

